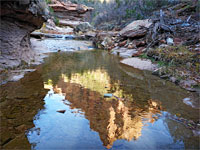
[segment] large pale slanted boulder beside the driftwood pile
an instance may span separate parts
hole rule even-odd
[[[120,31],[122,37],[136,38],[145,36],[148,28],[152,25],[152,22],[148,19],[146,20],[136,20],[127,25]]]

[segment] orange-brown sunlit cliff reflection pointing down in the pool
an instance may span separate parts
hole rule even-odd
[[[143,119],[154,122],[152,115],[160,112],[155,101],[146,101],[146,106],[141,108],[132,101],[107,100],[99,92],[65,82],[64,78],[59,80],[54,91],[65,95],[72,109],[81,109],[85,113],[90,128],[99,133],[107,148],[111,148],[117,139],[137,140],[141,136]]]

